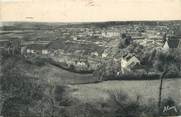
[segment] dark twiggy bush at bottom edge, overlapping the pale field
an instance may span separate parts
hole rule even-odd
[[[111,92],[110,102],[111,107],[114,108],[114,117],[155,117],[158,114],[156,104],[141,104],[140,96],[133,101],[121,91]]]

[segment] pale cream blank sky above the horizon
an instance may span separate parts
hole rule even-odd
[[[181,0],[0,0],[0,20],[181,20]]]

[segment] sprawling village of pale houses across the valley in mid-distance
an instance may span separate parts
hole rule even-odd
[[[177,26],[177,25],[176,25]],[[10,38],[10,34],[2,31],[0,40],[1,49],[6,48],[8,52],[18,51],[26,58],[34,56],[51,58],[67,69],[77,69],[76,71],[94,71],[102,61],[113,59],[120,63],[122,73],[140,64],[139,58],[134,53],[118,56],[121,44],[125,46],[137,43],[144,48],[155,48],[168,52],[180,48],[181,36],[175,36],[170,25],[116,25],[110,27],[86,27],[68,26],[59,27],[52,30],[56,34],[55,39],[43,37],[27,38],[21,34],[21,30],[13,31],[17,38]],[[49,29],[44,29],[44,31]],[[26,29],[32,32],[32,30]],[[8,31],[11,32],[11,31]],[[36,31],[37,35],[42,32]],[[40,34],[38,34],[40,33]],[[59,33],[57,35],[57,33]],[[18,50],[17,50],[18,48]],[[117,54],[118,57],[114,57]],[[119,73],[118,73],[119,74]]]

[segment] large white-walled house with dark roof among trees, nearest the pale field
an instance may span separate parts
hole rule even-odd
[[[131,68],[140,64],[140,60],[131,54],[128,54],[121,58],[121,71],[125,73],[125,71],[130,71]]]

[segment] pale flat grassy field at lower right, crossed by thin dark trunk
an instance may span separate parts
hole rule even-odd
[[[181,79],[166,79],[163,82],[162,98],[171,97],[181,104]],[[109,92],[121,91],[132,100],[144,104],[157,102],[159,95],[159,80],[105,81],[101,83],[70,85],[75,90],[71,96],[84,102],[99,102],[109,99]]]

